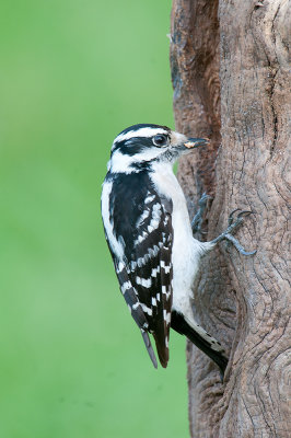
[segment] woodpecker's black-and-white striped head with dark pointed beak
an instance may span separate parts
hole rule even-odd
[[[208,142],[207,138],[187,138],[166,126],[133,125],[115,138],[108,170],[131,173],[149,169],[158,162],[174,164],[181,155]]]

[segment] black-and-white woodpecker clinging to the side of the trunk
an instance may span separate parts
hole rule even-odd
[[[124,129],[110,149],[101,210],[120,291],[153,366],[158,367],[158,360],[150,335],[160,364],[166,368],[173,328],[211,358],[223,376],[229,359],[221,343],[194,318],[193,285],[203,255],[218,242],[228,240],[244,255],[255,252],[245,251],[232,235],[251,211],[241,211],[236,219],[234,212],[240,209],[232,211],[228,228],[212,241],[194,238],[173,164],[208,143],[207,138],[188,138],[162,125],[138,124]],[[196,224],[198,217],[199,211]]]

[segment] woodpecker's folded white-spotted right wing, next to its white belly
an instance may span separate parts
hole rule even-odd
[[[148,319],[148,331],[155,339],[161,365],[166,367],[173,298],[173,229],[171,215],[159,196],[148,203],[144,211],[149,216],[138,221],[138,235],[142,238],[136,240],[128,275]]]

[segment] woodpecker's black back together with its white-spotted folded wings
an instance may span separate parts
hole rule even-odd
[[[166,367],[173,278],[172,204],[158,195],[147,173],[139,173],[137,180],[135,174],[119,175],[113,184],[109,221],[116,241],[124,247],[123,258],[107,240],[120,290],[154,366],[148,333],[153,335],[160,361]],[[106,227],[105,231],[108,234]]]

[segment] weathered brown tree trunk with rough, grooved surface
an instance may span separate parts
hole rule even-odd
[[[190,212],[213,201],[207,240],[235,208],[251,257],[220,244],[195,285],[194,313],[225,346],[225,380],[187,345],[195,438],[289,437],[288,31],[290,1],[174,0],[171,67],[176,129],[211,138],[179,163]],[[290,145],[290,143],[289,143]],[[290,266],[290,265],[289,265]],[[289,387],[290,389],[290,387]]]

